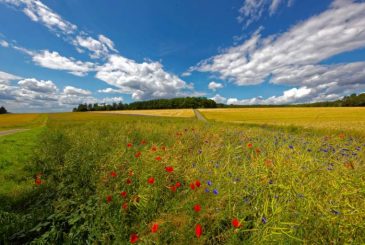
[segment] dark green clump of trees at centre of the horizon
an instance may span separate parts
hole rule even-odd
[[[183,109],[183,108],[216,108],[214,100],[205,97],[185,97],[137,101],[130,104],[122,102],[113,104],[80,104],[74,112],[80,111],[113,111],[113,110],[145,110],[145,109]]]

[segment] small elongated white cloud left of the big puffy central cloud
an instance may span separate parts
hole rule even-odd
[[[33,61],[42,67],[54,70],[67,71],[76,76],[85,76],[89,71],[93,70],[93,64],[90,62],[77,61],[74,58],[61,56],[58,52],[44,50],[33,53]]]

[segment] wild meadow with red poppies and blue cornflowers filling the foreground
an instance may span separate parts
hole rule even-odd
[[[25,179],[0,194],[0,243],[365,242],[365,140],[351,129],[45,117],[4,180]]]

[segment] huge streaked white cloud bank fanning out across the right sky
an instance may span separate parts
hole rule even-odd
[[[364,62],[334,65],[322,65],[320,62],[365,47],[364,12],[365,3],[338,0],[328,10],[281,35],[262,38],[256,32],[243,44],[200,62],[188,72],[217,73],[221,79],[239,86],[260,84],[269,79],[274,84],[310,89],[311,96],[305,96],[308,100],[319,98],[314,92],[321,93],[321,98],[333,98],[341,91],[362,87],[361,83],[365,81]],[[317,88],[328,84],[332,84],[331,88]],[[283,97],[275,97],[275,101],[286,103],[303,98],[294,96],[286,100],[287,97],[284,94]],[[239,103],[243,102],[251,103],[247,100]]]

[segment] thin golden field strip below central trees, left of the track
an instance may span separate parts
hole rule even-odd
[[[162,117],[194,117],[194,111],[192,109],[97,111],[96,113],[113,113],[113,114],[126,114],[126,115],[146,115],[146,116],[162,116]]]

